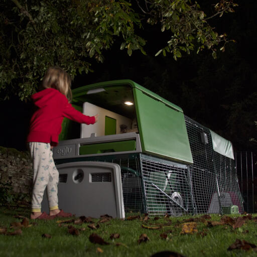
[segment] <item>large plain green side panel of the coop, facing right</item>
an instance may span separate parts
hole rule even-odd
[[[184,114],[133,88],[142,151],[183,163],[193,163]]]

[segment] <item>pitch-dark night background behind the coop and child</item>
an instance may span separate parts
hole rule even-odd
[[[215,1],[200,1],[206,13],[212,3]],[[154,30],[145,25],[142,36],[148,41],[147,56],[134,51],[130,57],[119,50],[117,41],[105,52],[104,63],[92,60],[94,72],[76,76],[72,88],[106,80],[134,80],[182,107],[185,115],[232,141],[236,151],[256,151],[257,144],[250,139],[257,138],[254,123],[257,120],[257,2],[236,3],[239,7],[235,8],[235,13],[226,14],[212,24],[219,33],[226,33],[236,41],[227,44],[225,52],[217,51],[216,60],[207,51],[185,54],[178,61],[172,55],[155,57],[169,38],[160,32],[158,25]],[[32,103],[13,97],[1,102],[0,107],[0,146],[26,150]]]

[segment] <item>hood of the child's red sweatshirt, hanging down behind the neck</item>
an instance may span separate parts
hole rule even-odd
[[[39,108],[42,108],[48,105],[52,100],[54,100],[55,95],[60,93],[57,89],[46,88],[38,93],[35,93],[31,96],[31,99],[34,101],[34,104]]]

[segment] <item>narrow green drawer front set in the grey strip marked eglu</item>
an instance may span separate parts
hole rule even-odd
[[[83,145],[83,146],[80,146],[79,148],[79,154],[90,155],[90,154],[102,154],[102,153],[112,153],[112,152],[135,151],[135,150],[136,150],[136,141],[125,140],[125,141],[117,141],[117,142]]]

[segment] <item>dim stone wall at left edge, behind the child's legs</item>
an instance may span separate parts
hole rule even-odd
[[[30,201],[32,181],[33,170],[29,152],[0,147],[0,189],[2,194],[8,190],[9,194],[12,193],[13,196],[16,196],[16,199]]]

